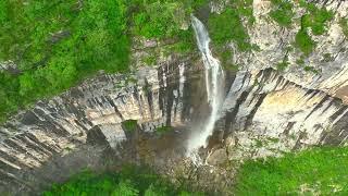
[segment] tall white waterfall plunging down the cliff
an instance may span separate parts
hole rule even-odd
[[[207,98],[210,106],[210,113],[202,122],[202,128],[195,131],[187,144],[188,156],[192,157],[195,161],[199,148],[207,147],[207,139],[213,133],[223,100],[224,73],[220,61],[212,56],[209,49],[210,38],[204,25],[195,16],[191,16],[191,24],[204,64]]]

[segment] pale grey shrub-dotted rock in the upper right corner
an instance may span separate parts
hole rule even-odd
[[[295,37],[301,27],[301,16],[304,9],[294,2],[295,16],[289,27],[282,27],[270,17],[271,1],[254,0],[252,25],[245,20],[245,26],[250,36],[250,42],[259,47],[251,52],[241,52],[231,44],[234,53],[234,64],[240,65],[241,70],[262,70],[276,68],[285,57],[288,58],[288,69],[284,76],[307,88],[324,90],[331,95],[347,99],[348,86],[348,39],[343,33],[339,20],[348,15],[347,1],[309,1],[318,7],[325,7],[334,12],[334,19],[327,23],[327,33],[315,36],[310,34],[316,46],[308,57],[303,58],[304,65],[318,71],[304,71],[303,65],[298,63],[303,53],[296,48]],[[225,1],[212,5],[213,12],[222,12]]]

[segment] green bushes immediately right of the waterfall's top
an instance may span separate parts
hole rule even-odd
[[[233,40],[241,51],[252,49],[249,42],[249,35],[243,26],[237,10],[227,8],[221,14],[212,14],[209,17],[208,27],[210,36],[217,47]]]

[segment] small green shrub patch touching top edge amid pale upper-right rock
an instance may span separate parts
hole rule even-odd
[[[270,12],[270,16],[281,26],[289,27],[295,15],[291,1],[271,0],[274,9]]]

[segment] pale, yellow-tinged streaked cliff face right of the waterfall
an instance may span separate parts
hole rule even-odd
[[[347,145],[348,107],[324,91],[287,81],[272,69],[237,73],[224,110],[217,127],[234,159]]]

